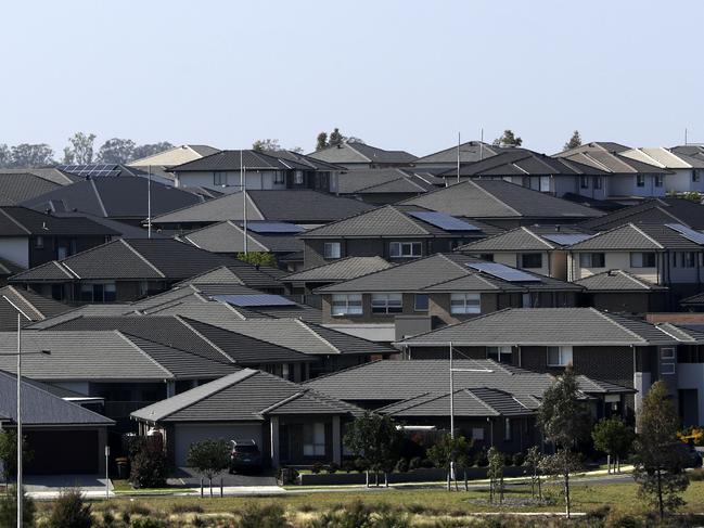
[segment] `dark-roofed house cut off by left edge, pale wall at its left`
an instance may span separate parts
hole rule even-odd
[[[69,257],[120,234],[87,218],[56,218],[26,207],[0,207],[0,258],[22,269]]]

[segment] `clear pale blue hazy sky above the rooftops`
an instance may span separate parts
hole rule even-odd
[[[702,1],[8,1],[0,143],[704,142]]]

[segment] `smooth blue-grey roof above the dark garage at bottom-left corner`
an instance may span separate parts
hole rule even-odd
[[[15,425],[17,422],[16,386],[17,378],[14,374],[0,371],[0,422],[9,422],[9,425]],[[66,401],[24,379],[22,381],[22,423],[54,427],[115,424],[108,417]],[[7,423],[3,425],[8,426]]]

